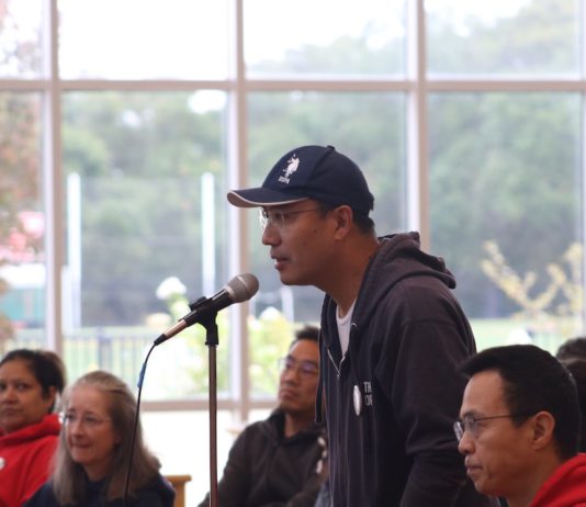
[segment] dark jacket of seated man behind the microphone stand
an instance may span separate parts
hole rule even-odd
[[[284,414],[277,409],[252,422],[230,449],[217,500],[222,507],[313,507],[325,478],[323,425],[285,438]],[[199,505],[207,507],[209,496]]]

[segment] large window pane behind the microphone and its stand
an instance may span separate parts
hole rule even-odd
[[[209,93],[64,98],[64,325],[72,378],[100,365],[136,384],[155,338],[189,312],[189,302],[227,281],[224,106],[201,109],[199,95]],[[227,320],[226,312],[218,315],[224,341]],[[158,347],[145,396],[205,394],[204,341],[196,325]],[[223,364],[227,349],[218,349]],[[226,368],[222,372],[221,392],[227,388]]]

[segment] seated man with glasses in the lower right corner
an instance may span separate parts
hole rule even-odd
[[[570,372],[549,352],[517,345],[486,349],[469,376],[459,450],[476,489],[508,507],[586,505],[586,454],[578,454],[579,408]]]

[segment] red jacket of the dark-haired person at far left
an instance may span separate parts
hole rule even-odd
[[[48,478],[60,430],[56,414],[10,433],[0,431],[0,507],[21,507]]]

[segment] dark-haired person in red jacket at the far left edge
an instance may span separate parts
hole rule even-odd
[[[20,507],[47,480],[60,424],[65,368],[53,352],[18,349],[0,361],[0,506]]]

